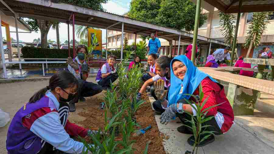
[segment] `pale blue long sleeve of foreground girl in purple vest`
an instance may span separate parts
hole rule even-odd
[[[30,131],[63,152],[80,154],[83,151],[84,144],[69,137],[57,112],[50,112],[36,119]]]

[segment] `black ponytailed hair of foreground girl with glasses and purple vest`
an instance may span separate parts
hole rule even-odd
[[[69,87],[73,87],[75,85],[78,86],[78,80],[76,79],[76,77],[74,77],[74,75],[71,72],[59,71],[50,78],[48,86],[46,86],[43,89],[40,89],[33,96],[30,97],[29,102],[37,102],[45,95],[47,90],[54,90],[56,87],[66,89]]]

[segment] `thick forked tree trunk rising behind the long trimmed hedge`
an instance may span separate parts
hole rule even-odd
[[[47,33],[50,30],[52,23],[47,20],[37,19],[37,23],[41,32],[41,47],[47,48]]]

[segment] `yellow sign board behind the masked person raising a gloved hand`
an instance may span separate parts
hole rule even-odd
[[[94,48],[94,50],[102,51],[102,30],[95,30],[92,28],[88,28],[88,46],[90,46],[91,43],[93,42],[93,38],[96,38],[98,41],[98,44]]]

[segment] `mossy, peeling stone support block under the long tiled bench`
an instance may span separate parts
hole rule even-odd
[[[227,99],[233,108],[234,115],[253,114],[258,93],[258,90],[229,83]]]

